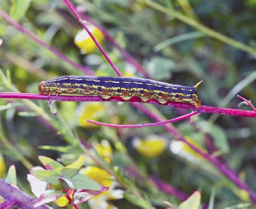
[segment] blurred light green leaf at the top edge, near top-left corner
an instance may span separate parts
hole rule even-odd
[[[10,9],[10,16],[17,21],[25,16],[29,9],[31,0],[13,0]]]

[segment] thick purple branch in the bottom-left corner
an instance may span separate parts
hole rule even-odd
[[[12,201],[14,201],[14,204],[17,207],[21,208],[34,208],[34,204],[36,203],[36,199],[30,197],[28,194],[22,192],[16,187],[6,183],[3,179],[0,179],[0,196],[4,197],[7,200],[11,199]],[[1,205],[0,208],[2,208]],[[47,205],[41,205],[37,208],[49,209],[51,207]]]

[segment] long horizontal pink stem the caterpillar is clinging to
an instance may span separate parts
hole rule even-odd
[[[41,94],[30,94],[30,93],[8,93],[8,92],[0,92],[0,98],[12,98],[12,99],[32,99],[32,100],[56,100],[56,101],[79,101],[79,102],[106,102],[102,97],[99,96],[58,96],[56,98],[55,95],[41,95]],[[109,102],[120,102],[122,100],[120,97],[112,97],[109,99]],[[130,102],[140,110],[145,107],[139,105],[138,103],[142,103],[142,101],[138,97],[132,97]],[[150,100],[148,103],[153,105],[160,105],[156,100]],[[139,105],[139,106],[138,106]],[[199,113],[211,113],[211,114],[221,114],[221,115],[232,115],[232,116],[242,116],[242,117],[253,117],[256,118],[256,112],[248,111],[248,110],[240,110],[240,109],[230,109],[230,108],[220,108],[220,107],[211,107],[211,106],[201,106],[200,108],[196,108],[192,105],[188,105],[185,103],[178,102],[167,102],[167,106],[176,107],[176,108],[184,108],[191,109],[193,111],[197,111]],[[150,115],[152,118],[153,113],[149,110],[145,112],[147,115]],[[153,114],[154,115],[154,114]]]

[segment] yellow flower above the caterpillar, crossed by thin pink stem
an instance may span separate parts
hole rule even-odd
[[[98,43],[99,44],[102,43],[104,39],[104,34],[102,33],[102,31],[100,31],[98,27],[91,24],[88,25],[88,28],[93,34],[93,36],[96,38]],[[77,47],[80,48],[82,53],[89,54],[95,51],[97,48],[92,38],[89,36],[89,34],[85,30],[78,31],[74,42],[77,45]]]

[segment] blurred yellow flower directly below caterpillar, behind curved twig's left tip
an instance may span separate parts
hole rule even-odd
[[[106,113],[106,105],[103,102],[86,102],[85,106],[82,108],[82,114],[79,113],[80,117],[78,124],[79,126],[85,128],[97,127],[96,124],[86,122],[86,120],[97,121],[99,118],[102,118]]]

